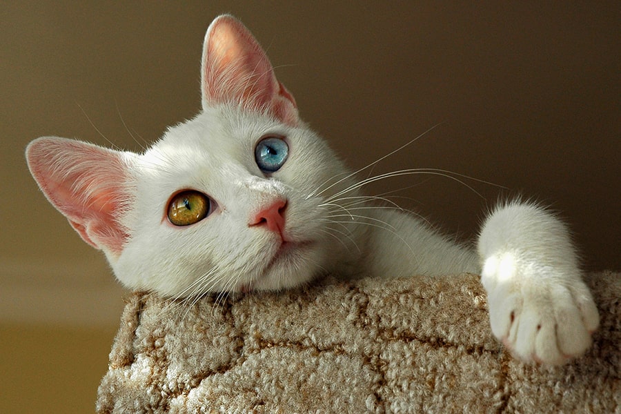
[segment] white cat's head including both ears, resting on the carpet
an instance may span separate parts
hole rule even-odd
[[[233,17],[208,28],[201,95],[199,115],[141,154],[43,137],[30,172],[128,288],[273,290],[342,265],[355,246],[337,198],[353,182]]]

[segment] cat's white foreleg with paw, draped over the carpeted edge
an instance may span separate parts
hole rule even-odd
[[[477,247],[492,332],[514,355],[562,364],[591,346],[599,314],[561,221],[509,203],[486,219]]]

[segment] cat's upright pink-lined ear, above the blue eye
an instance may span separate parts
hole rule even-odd
[[[285,124],[299,121],[295,99],[280,83],[259,43],[232,16],[215,19],[207,30],[201,68],[203,108],[239,103],[267,110]]]

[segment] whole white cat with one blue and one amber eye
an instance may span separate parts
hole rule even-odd
[[[377,197],[299,119],[252,34],[211,23],[202,111],[144,154],[57,137],[26,157],[50,202],[130,289],[166,297],[276,290],[344,277],[482,275],[491,327],[526,362],[560,364],[599,315],[568,232],[530,203],[486,219],[478,255]]]

